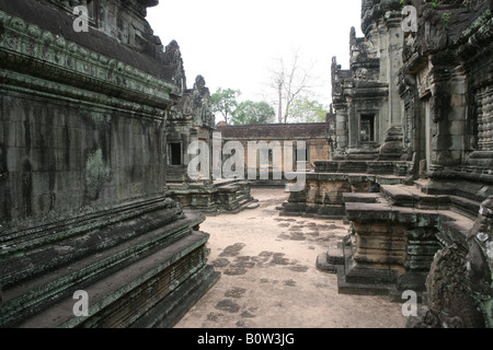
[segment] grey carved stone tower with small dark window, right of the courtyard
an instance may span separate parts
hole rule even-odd
[[[365,37],[349,35],[349,69],[332,62],[332,96],[337,121],[334,159],[400,160],[403,155],[402,28],[399,1],[365,1]]]

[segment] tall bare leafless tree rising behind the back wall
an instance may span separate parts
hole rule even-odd
[[[295,100],[314,88],[313,79],[310,75],[312,69],[313,63],[307,67],[300,63],[298,51],[294,52],[289,67],[285,66],[283,58],[279,59],[271,83],[277,95],[277,120],[279,124],[288,122],[290,106]]]

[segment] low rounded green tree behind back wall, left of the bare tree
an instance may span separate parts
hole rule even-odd
[[[232,125],[255,125],[273,122],[276,112],[266,102],[244,101],[232,114]]]

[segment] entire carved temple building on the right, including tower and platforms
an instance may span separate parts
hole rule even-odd
[[[351,68],[332,66],[333,159],[289,205],[351,221],[318,259],[340,292],[411,290],[409,326],[492,327],[493,2],[404,2],[363,1]]]

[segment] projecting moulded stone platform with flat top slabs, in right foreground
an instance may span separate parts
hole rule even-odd
[[[318,265],[337,273],[339,291],[424,296],[435,254],[447,244],[467,247],[480,202],[427,195],[420,185],[382,185],[378,194],[343,194],[351,234]],[[321,262],[320,262],[321,261]],[[332,264],[330,262],[332,261]]]

